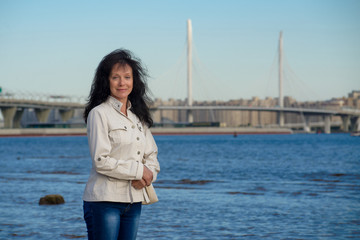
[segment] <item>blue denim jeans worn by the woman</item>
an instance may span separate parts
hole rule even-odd
[[[89,240],[136,239],[141,202],[86,202],[84,219]]]

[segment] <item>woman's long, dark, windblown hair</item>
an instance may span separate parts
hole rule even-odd
[[[85,107],[85,122],[87,122],[87,117],[91,109],[108,99],[110,95],[109,75],[115,64],[120,64],[121,66],[128,64],[132,68],[133,89],[128,97],[128,100],[131,102],[130,110],[142,123],[151,127],[153,125],[153,120],[148,106],[151,100],[147,93],[147,70],[141,65],[141,60],[136,58],[132,52],[126,49],[117,49],[109,53],[99,63],[91,85],[88,102]]]

